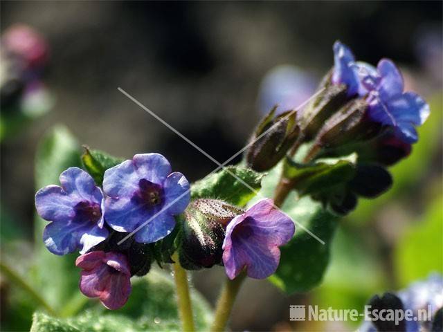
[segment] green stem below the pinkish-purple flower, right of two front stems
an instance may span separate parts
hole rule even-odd
[[[226,278],[226,282],[223,286],[223,290],[221,291],[219,300],[217,302],[215,318],[210,331],[224,331],[226,323],[229,320],[230,311],[232,311],[235,302],[235,297],[237,296],[240,286],[242,286],[242,282],[245,277],[246,274],[241,273],[233,280]]]

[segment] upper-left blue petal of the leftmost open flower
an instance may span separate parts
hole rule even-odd
[[[35,194],[37,213],[47,221],[68,222],[75,216],[74,206],[79,203],[58,185],[48,185]]]

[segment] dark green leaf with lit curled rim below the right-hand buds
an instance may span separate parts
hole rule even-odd
[[[311,164],[300,164],[287,158],[284,175],[293,181],[300,196],[318,194],[350,181],[355,175],[355,163],[356,154],[318,159]]]

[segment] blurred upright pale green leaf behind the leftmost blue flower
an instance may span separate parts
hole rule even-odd
[[[35,157],[35,188],[60,184],[58,177],[66,168],[80,166],[80,145],[66,127],[51,129],[39,142]],[[57,256],[43,243],[43,230],[48,224],[35,214],[35,266],[31,277],[53,308],[62,308],[78,288],[77,255]]]

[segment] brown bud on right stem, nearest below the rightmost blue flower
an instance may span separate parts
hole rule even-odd
[[[316,137],[320,147],[370,140],[381,132],[381,125],[368,118],[368,104],[364,100],[352,100],[329,118]]]

